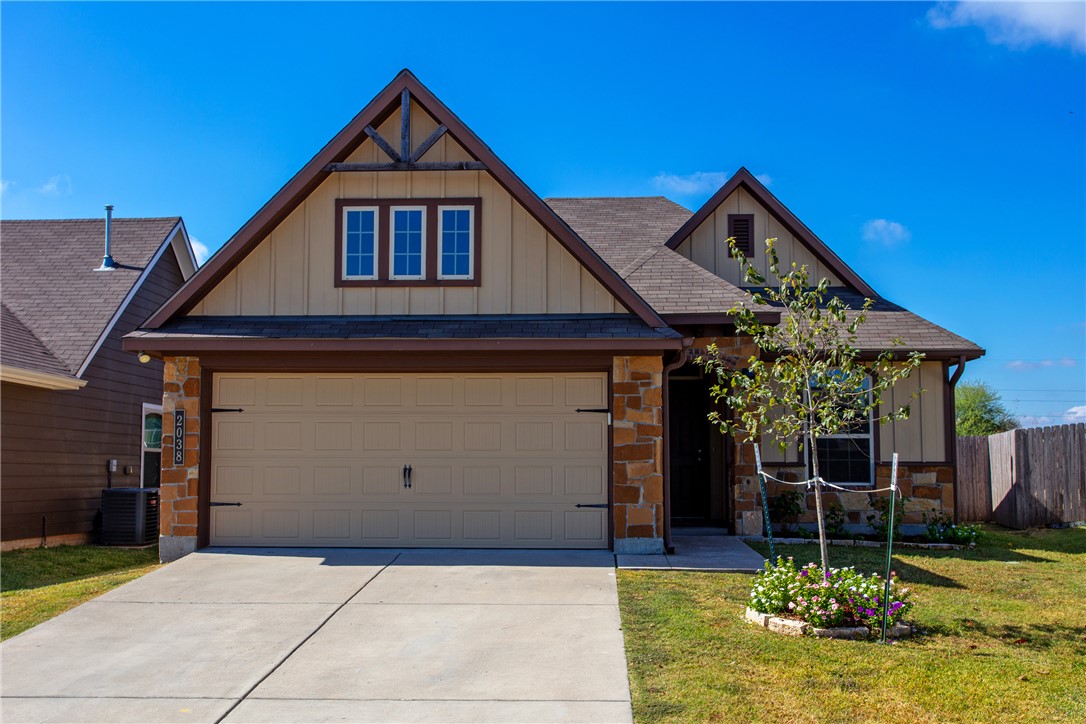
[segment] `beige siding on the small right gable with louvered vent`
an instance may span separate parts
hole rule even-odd
[[[728,254],[725,240],[728,239],[729,214],[754,215],[752,233],[754,254],[749,258],[755,268],[767,277],[771,277],[771,275],[766,259],[765,241],[776,239],[774,246],[781,262],[781,269],[790,269],[793,262],[796,263],[796,266],[806,264],[808,276],[812,282],[817,282],[819,279],[829,279],[832,287],[845,285],[826,265],[811,253],[803,241],[792,236],[765,206],[742,187],[724,199],[712,215],[694,229],[675,251],[698,266],[712,271],[721,279],[736,287],[746,287],[738,263]]]

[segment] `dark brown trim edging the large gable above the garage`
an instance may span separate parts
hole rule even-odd
[[[255,246],[299,206],[332,173],[329,164],[343,163],[369,136],[366,127],[378,127],[400,109],[401,94],[406,90],[422,107],[456,139],[476,161],[483,163],[493,178],[513,195],[558,242],[573,255],[604,289],[615,295],[630,312],[651,327],[664,327],[652,306],[637,296],[622,278],[599,255],[573,232],[535,192],[521,181],[490,148],[479,139],[437,96],[411,71],[401,71],[372,101],[336,135],[290,181],[230,238],[203,267],[171,297],[146,327],[154,329],[172,317],[189,312],[211,292]]]

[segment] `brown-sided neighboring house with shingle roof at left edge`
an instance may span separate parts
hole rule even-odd
[[[177,217],[0,221],[5,549],[87,541],[102,488],[157,486],[163,366],[121,339],[194,270]]]

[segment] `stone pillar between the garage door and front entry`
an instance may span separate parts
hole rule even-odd
[[[664,552],[664,360],[615,357],[615,552]]]

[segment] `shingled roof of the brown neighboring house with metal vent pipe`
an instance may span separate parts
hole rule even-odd
[[[188,255],[182,274],[193,270],[179,217],[114,218],[118,267],[96,271],[104,236],[104,218],[0,221],[0,364],[78,378],[167,246]]]

